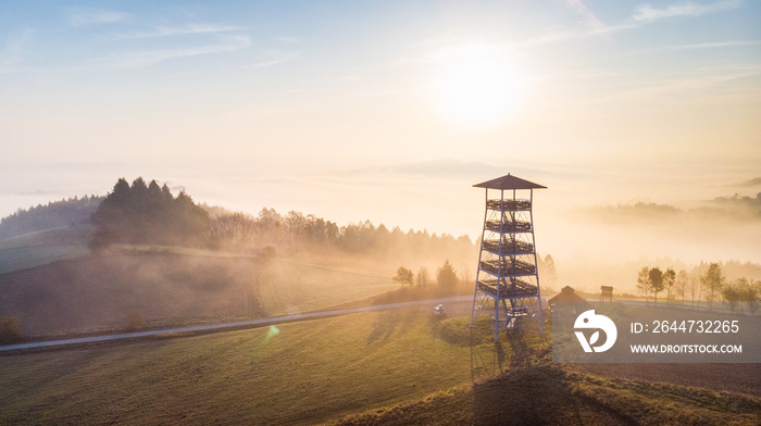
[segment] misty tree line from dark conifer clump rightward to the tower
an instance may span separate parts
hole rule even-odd
[[[454,238],[427,230],[388,229],[365,221],[338,226],[313,214],[290,211],[283,215],[263,208],[258,215],[233,213],[221,208],[196,204],[180,191],[142,177],[132,185],[120,178],[92,214],[96,234],[92,247],[109,243],[178,245],[262,251],[302,251],[404,258],[425,253],[429,259],[465,259],[474,252],[466,235]]]

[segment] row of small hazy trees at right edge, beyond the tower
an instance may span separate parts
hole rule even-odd
[[[643,266],[637,274],[637,289],[648,301],[652,296],[656,304],[658,295],[665,293],[666,303],[681,298],[683,303],[689,299],[695,305],[696,300],[706,300],[709,306],[712,306],[714,301],[723,299],[728,302],[733,312],[743,308],[741,303],[745,303],[751,314],[756,313],[761,296],[761,281],[745,277],[727,280],[722,275],[719,263],[702,266],[701,264],[689,273],[685,270],[677,273],[671,266],[665,271],[658,266]]]

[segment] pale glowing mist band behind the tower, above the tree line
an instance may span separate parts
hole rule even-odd
[[[500,170],[487,163],[432,161],[288,178],[226,177],[222,185],[205,178],[166,183],[175,192],[197,190],[194,198],[199,202],[253,216],[265,206],[280,214],[296,210],[321,216],[323,212],[325,220],[339,226],[370,220],[375,226],[399,227],[404,233],[426,229],[454,238],[466,235],[475,241],[483,226],[484,193],[471,185]],[[613,285],[619,291],[636,293],[638,265],[689,268],[700,262],[758,261],[761,185],[739,171],[726,173],[724,183],[715,177],[694,178],[689,185],[663,179],[660,186],[653,186],[652,177],[629,181],[604,170],[597,171],[598,177],[567,168],[563,173],[514,171],[536,175],[536,181],[548,186],[534,195],[537,249],[540,255],[551,254],[558,268],[558,281],[547,281],[548,290],[570,285],[595,292],[601,285]],[[23,202],[28,197],[12,199]],[[387,275],[392,275],[397,263],[435,270],[440,260],[426,255],[417,260],[421,254],[408,252],[407,258],[365,262],[365,266]],[[473,247],[470,254],[452,261],[458,270],[473,274],[476,256]]]

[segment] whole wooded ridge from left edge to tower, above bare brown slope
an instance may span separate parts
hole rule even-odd
[[[67,228],[75,230],[63,230]],[[45,242],[39,241],[39,233],[47,233]],[[0,274],[73,259],[85,254],[87,248],[98,250],[114,243],[240,253],[274,248],[278,253],[305,253],[324,264],[350,259],[354,268],[384,273],[400,264],[423,273],[449,260],[467,275],[476,253],[466,235],[454,238],[427,230],[402,231],[370,221],[338,226],[312,214],[279,214],[266,208],[252,216],[197,204],[184,191],[174,196],[166,185],[160,187],[155,180],[146,184],[138,177],[132,185],[117,179],[105,197],[75,197],[2,218]]]

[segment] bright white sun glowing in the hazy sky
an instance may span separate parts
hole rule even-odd
[[[513,64],[489,49],[450,54],[434,82],[435,101],[448,120],[475,126],[503,122],[522,101],[523,84]]]

